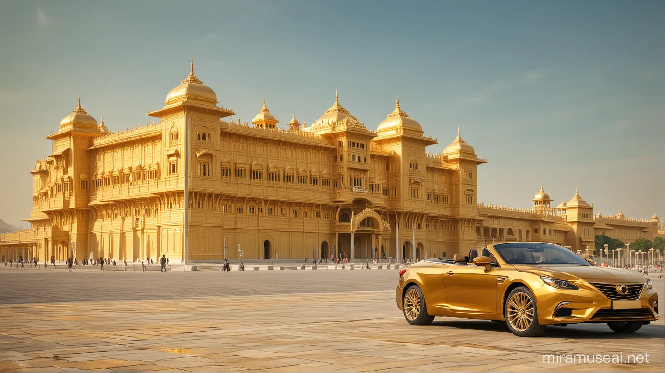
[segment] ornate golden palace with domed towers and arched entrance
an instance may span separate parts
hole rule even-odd
[[[159,123],[109,133],[79,100],[47,135],[53,153],[30,172],[32,228],[0,235],[1,258],[166,254],[178,262],[186,240],[188,260],[237,258],[238,247],[243,258],[424,258],[492,240],[593,246],[600,228],[626,241],[658,234],[656,216],[597,217],[578,194],[556,210],[549,196],[539,198],[542,188],[529,210],[478,204],[477,165],[486,161],[459,130],[442,152],[429,153],[437,140],[399,99],[376,131],[337,97],[310,127],[295,115],[288,129],[277,127],[265,102],[251,124],[241,123],[192,64],[165,106],[148,115]]]

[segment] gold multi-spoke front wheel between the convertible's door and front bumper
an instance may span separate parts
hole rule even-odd
[[[538,324],[536,299],[524,286],[519,286],[508,294],[503,313],[505,323],[516,336],[535,337],[545,331],[545,325]]]

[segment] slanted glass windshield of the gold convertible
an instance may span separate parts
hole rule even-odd
[[[494,245],[508,264],[573,264],[591,266],[585,258],[555,244],[513,242]]]

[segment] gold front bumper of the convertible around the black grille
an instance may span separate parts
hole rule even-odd
[[[539,324],[653,321],[659,318],[658,293],[653,288],[642,290],[634,308],[613,309],[612,300],[602,292],[588,284],[580,285],[578,290],[557,289],[549,285],[534,290]]]

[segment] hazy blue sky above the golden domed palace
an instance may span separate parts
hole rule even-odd
[[[31,210],[26,172],[76,106],[116,131],[196,75],[241,120],[285,125],[334,102],[369,129],[394,108],[441,151],[489,160],[479,201],[527,207],[541,183],[604,214],[663,216],[663,1],[3,1],[0,218]],[[236,117],[237,119],[237,117]],[[28,227],[27,222],[23,222]]]

